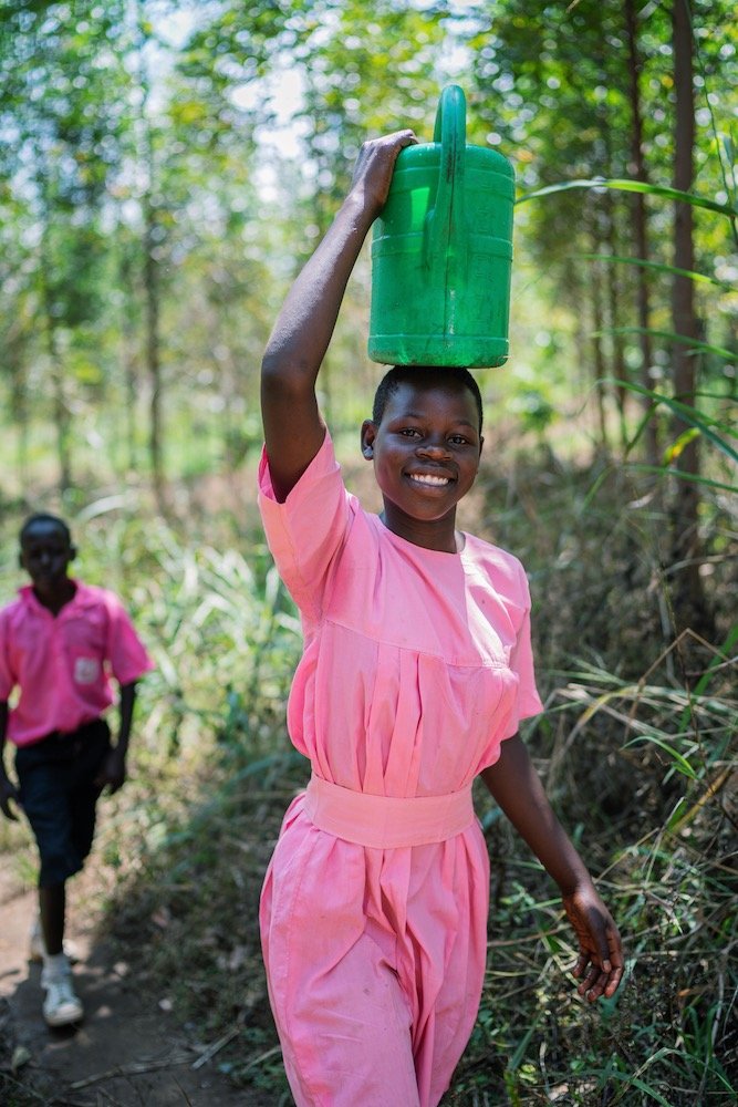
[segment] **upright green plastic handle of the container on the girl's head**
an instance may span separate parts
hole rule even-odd
[[[436,206],[426,216],[424,250],[426,265],[446,271],[466,265],[467,236],[464,203],[466,163],[466,99],[458,84],[440,94],[433,141],[440,144]]]

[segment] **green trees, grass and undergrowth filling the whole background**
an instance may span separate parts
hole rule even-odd
[[[633,169],[631,7],[647,182]],[[428,141],[449,80],[467,92],[469,141],[508,154],[520,187],[513,354],[503,372],[480,374],[492,464],[478,529],[530,570],[547,711],[529,739],[602,873],[630,960],[615,1001],[592,1011],[572,997],[561,982],[571,939],[550,887],[480,797],[497,859],[491,960],[446,1101],[735,1098],[736,578],[724,494],[738,456],[738,39],[723,0],[690,11],[696,183],[677,194],[664,6],[0,4],[3,596],[30,501],[72,517],[81,575],[128,601],[157,671],[142,687],[138,775],[101,842],[118,881],[112,924],[135,935],[142,981],[150,972],[157,992],[171,986],[183,1018],[214,1035],[236,1030],[224,1069],[274,1103],[288,1099],[254,904],[306,772],[283,727],[299,629],[250,509],[237,523],[216,501],[232,494],[238,467],[250,479],[261,350],[361,141],[405,125]],[[640,200],[647,258],[633,241]],[[671,265],[675,200],[696,218],[688,272]],[[688,340],[701,364],[689,397],[672,382],[673,343],[684,341],[671,320],[675,276],[694,282],[703,320]],[[368,292],[364,256],[321,377],[342,443],[377,377]],[[148,496],[153,312],[169,523]],[[64,414],[76,472],[59,499]],[[652,427],[655,458],[644,449]],[[703,493],[710,642],[675,641],[682,568],[665,541],[665,482],[696,442],[701,470],[678,477]],[[3,846],[13,834],[3,828]],[[29,878],[30,852],[17,837],[12,846]]]

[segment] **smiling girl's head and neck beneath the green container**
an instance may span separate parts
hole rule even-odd
[[[374,462],[385,526],[416,546],[455,552],[456,505],[471,488],[482,437],[475,397],[461,382],[428,374],[402,382],[378,426],[362,426],[362,453]]]

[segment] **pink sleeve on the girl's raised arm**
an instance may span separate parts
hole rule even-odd
[[[267,542],[292,599],[308,619],[320,618],[331,567],[349,531],[350,497],[325,438],[284,503],[278,503],[262,451],[259,466],[259,510]]]

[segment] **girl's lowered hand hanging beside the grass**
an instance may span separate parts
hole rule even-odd
[[[564,911],[579,941],[579,958],[572,973],[582,982],[576,989],[594,1003],[614,995],[623,975],[620,933],[593,884],[578,887],[563,897]]]

